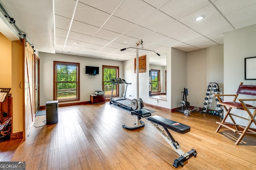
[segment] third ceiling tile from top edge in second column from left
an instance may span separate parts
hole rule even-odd
[[[86,23],[73,21],[70,31],[93,36],[99,30],[98,27]]]

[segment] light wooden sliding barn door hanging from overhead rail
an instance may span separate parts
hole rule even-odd
[[[34,123],[34,50],[25,39],[23,43],[23,139],[26,140]]]

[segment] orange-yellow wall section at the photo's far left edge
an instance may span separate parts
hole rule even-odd
[[[0,32],[0,88],[12,88],[12,42]]]

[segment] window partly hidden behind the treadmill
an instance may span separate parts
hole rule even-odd
[[[113,97],[119,96],[119,85],[113,85],[110,79],[119,77],[119,67],[118,66],[102,66],[102,89],[105,91],[106,96],[111,96],[112,88]]]

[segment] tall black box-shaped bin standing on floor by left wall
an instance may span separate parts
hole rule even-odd
[[[58,123],[58,100],[46,102],[46,125]]]

